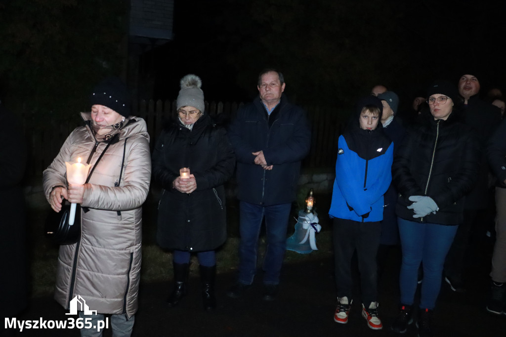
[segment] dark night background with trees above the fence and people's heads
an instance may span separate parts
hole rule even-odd
[[[94,83],[128,73],[128,6],[0,3],[3,102],[41,116],[86,109]],[[292,101],[330,113],[379,83],[406,108],[432,80],[456,83],[468,71],[479,72],[483,93],[504,86],[504,9],[491,0],[176,0],[174,39],[138,59],[138,95],[174,100],[191,72],[206,100],[248,101],[267,66],[284,72]]]

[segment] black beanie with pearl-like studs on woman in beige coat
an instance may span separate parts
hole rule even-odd
[[[130,116],[130,92],[117,77],[107,77],[98,83],[90,95],[90,104],[104,105],[121,116]]]

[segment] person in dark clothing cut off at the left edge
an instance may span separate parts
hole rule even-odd
[[[26,146],[19,120],[0,104],[0,277],[2,317],[16,317],[27,304],[26,218],[22,180]]]

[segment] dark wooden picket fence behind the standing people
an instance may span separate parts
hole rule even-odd
[[[225,123],[244,103],[205,102],[206,112]],[[175,113],[176,101],[139,101],[134,102],[133,115],[146,120],[150,135],[151,149],[156,143],[166,120]],[[312,126],[310,154],[303,161],[303,169],[317,169],[322,172],[333,172],[338,137],[343,131],[343,123],[335,113],[317,106],[304,107]],[[137,112],[136,112],[137,111]],[[44,122],[29,114],[22,116],[24,134],[28,147],[28,177],[41,177],[42,172],[58,154],[63,142],[70,132],[80,125],[76,118],[70,121],[47,118]],[[48,121],[49,119],[49,121]]]

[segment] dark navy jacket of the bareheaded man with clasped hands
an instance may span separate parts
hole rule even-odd
[[[237,111],[228,136],[237,156],[239,200],[269,206],[295,199],[301,160],[311,146],[311,129],[302,108],[282,95],[269,116],[257,97]],[[255,164],[251,153],[261,150],[272,170]]]

